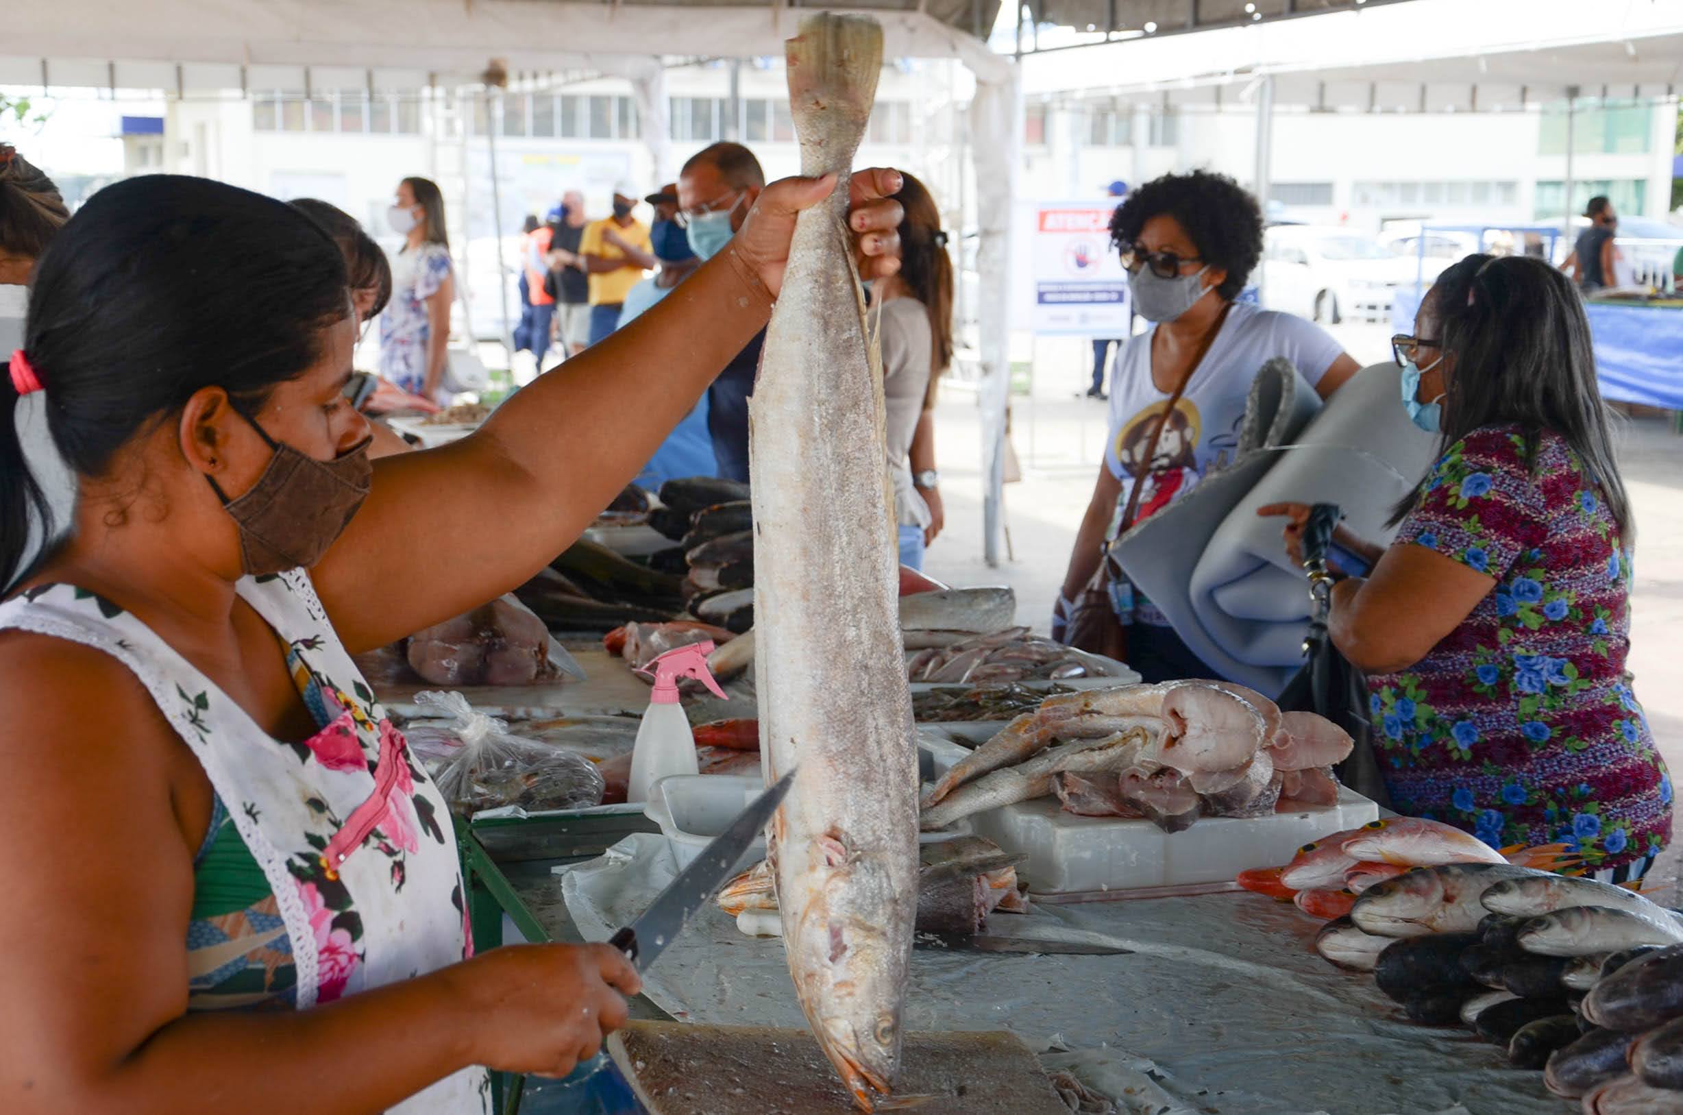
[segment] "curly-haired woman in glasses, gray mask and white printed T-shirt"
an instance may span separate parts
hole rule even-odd
[[[1111,241],[1134,310],[1153,327],[1116,357],[1104,465],[1052,615],[1060,638],[1111,539],[1225,463],[1264,362],[1286,357],[1321,397],[1356,371],[1319,327],[1235,301],[1262,256],[1262,211],[1227,175],[1193,170],[1148,182],[1118,205]],[[1109,578],[1129,665],[1146,680],[1217,675],[1114,563]]]

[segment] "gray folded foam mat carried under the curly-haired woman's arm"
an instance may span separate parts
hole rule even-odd
[[[1400,369],[1356,372],[1328,403],[1284,359],[1262,365],[1239,456],[1118,539],[1111,552],[1175,633],[1217,674],[1276,696],[1303,665],[1309,591],[1257,507],[1338,504],[1383,542],[1390,507],[1432,461],[1437,438],[1400,404]]]

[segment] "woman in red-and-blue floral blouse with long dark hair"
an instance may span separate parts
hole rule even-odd
[[[1373,571],[1331,613],[1392,802],[1641,878],[1671,837],[1671,778],[1626,672],[1636,524],[1582,303],[1540,261],[1469,256],[1397,359],[1441,453],[1388,549],[1340,536]]]

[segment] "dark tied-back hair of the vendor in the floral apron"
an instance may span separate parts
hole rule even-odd
[[[118,450],[202,387],[224,387],[254,416],[348,310],[338,248],[301,212],[207,179],[148,175],[99,190],[59,231],[35,266],[24,352],[52,445],[77,477],[104,477]],[[30,515],[45,510],[19,399],[0,377],[0,586],[29,573]]]

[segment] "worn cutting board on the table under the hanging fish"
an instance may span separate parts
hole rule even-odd
[[[823,1115],[853,1098],[811,1032],[772,1026],[628,1022],[608,1039],[653,1115]],[[1017,1034],[907,1034],[895,1095],[917,1115],[1069,1115]]]

